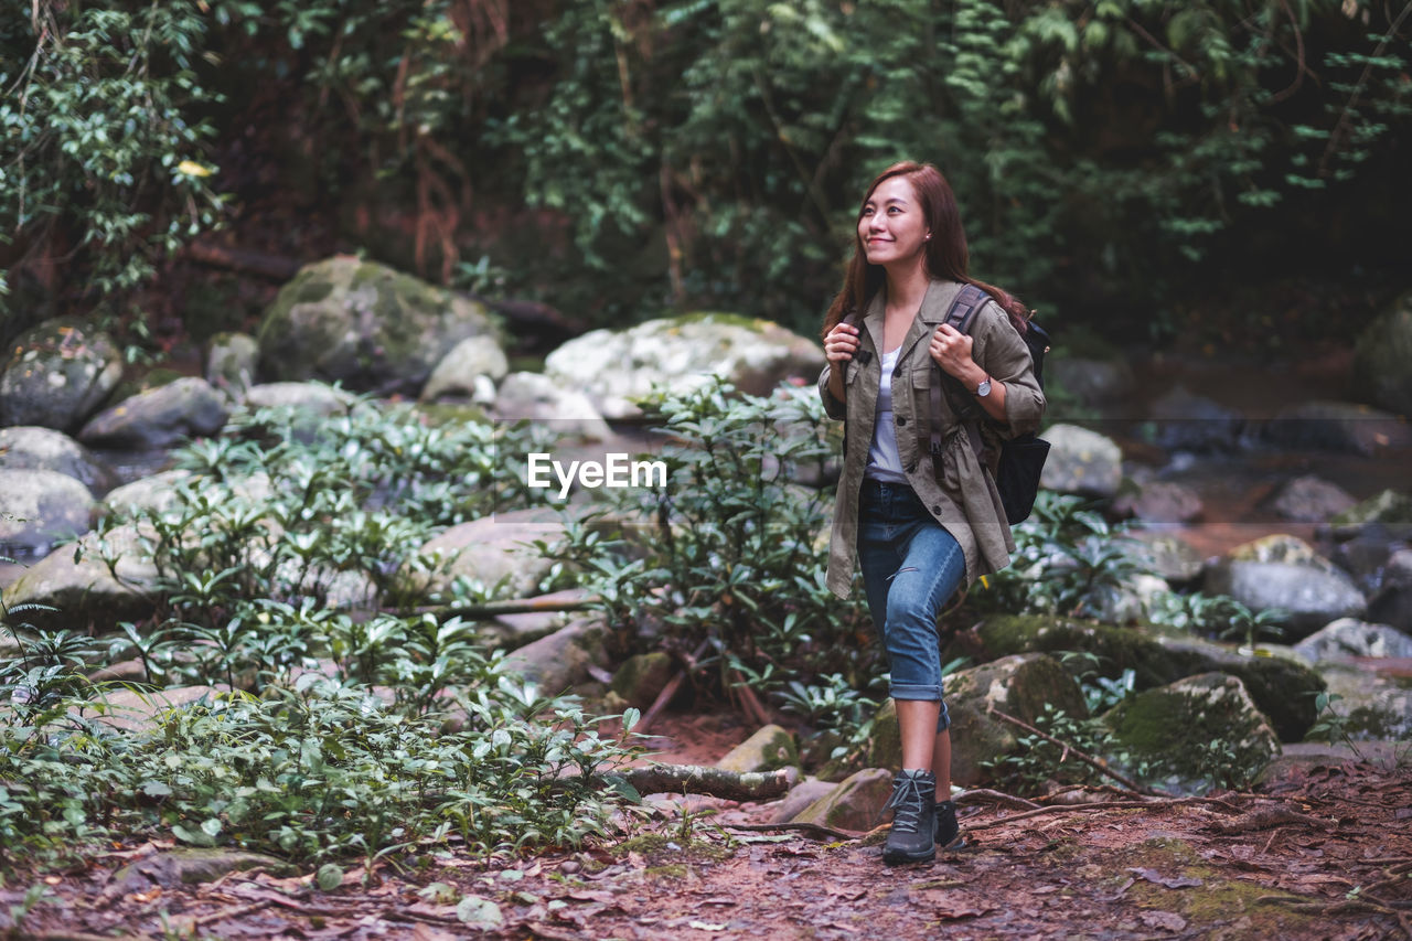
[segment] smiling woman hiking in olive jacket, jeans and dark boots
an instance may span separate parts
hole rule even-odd
[[[933,859],[938,844],[956,839],[936,616],[962,579],[1010,564],[1015,543],[993,480],[994,444],[1036,431],[1045,407],[1021,339],[1028,311],[967,277],[967,254],[942,174],[895,164],[863,199],[853,260],[823,326],[819,394],[830,418],[847,418],[827,584],[847,598],[858,561],[902,733],[888,865]],[[990,295],[969,335],[945,322],[966,284]],[[933,360],[960,384],[946,383],[953,389],[939,397],[939,458],[918,437],[931,427]],[[956,414],[962,396],[983,414],[980,455]]]

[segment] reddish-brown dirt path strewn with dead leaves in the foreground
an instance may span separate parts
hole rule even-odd
[[[699,716],[658,732],[661,760],[703,763],[748,729]],[[18,937],[1412,938],[1412,769],[1395,757],[1308,756],[1257,793],[1137,807],[1099,791],[1035,812],[977,793],[964,846],[897,869],[882,831],[737,829],[770,805],[682,798],[614,844],[384,863],[330,892],[261,869],[128,890],[114,872],[169,849],[144,844],[48,876]],[[0,924],[25,887],[0,890]]]

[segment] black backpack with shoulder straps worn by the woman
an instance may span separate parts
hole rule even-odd
[[[946,312],[946,322],[962,333],[970,333],[976,312],[990,300],[990,295],[974,284],[962,288],[956,300],[952,301]],[[1039,387],[1045,387],[1045,353],[1049,352],[1049,333],[1038,324],[1029,321],[1029,329],[1024,333],[1025,346],[1029,349],[1029,359],[1034,363],[1035,380]],[[983,411],[976,404],[974,397],[962,386],[960,380],[932,360],[932,422],[926,432],[926,439],[921,444],[932,454],[932,466],[940,466],[942,454],[942,389],[952,394],[952,410],[966,425],[971,448],[980,458],[983,441],[980,435],[980,418]],[[1035,507],[1035,496],[1039,493],[1039,476],[1045,469],[1045,458],[1049,456],[1049,442],[1036,438],[1034,434],[1024,434],[1000,442],[1000,465],[995,469],[995,489],[1000,490],[1000,502],[1005,507],[1005,520],[1011,526],[1029,517]]]

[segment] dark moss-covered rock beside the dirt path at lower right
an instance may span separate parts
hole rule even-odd
[[[1125,750],[1118,764],[1148,764],[1149,780],[1204,791],[1244,787],[1279,754],[1269,722],[1236,677],[1203,673],[1147,690],[1103,715]],[[1224,743],[1213,754],[1210,745]]]

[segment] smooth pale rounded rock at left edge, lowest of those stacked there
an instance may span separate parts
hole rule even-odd
[[[55,470],[0,470],[0,555],[42,555],[88,533],[93,495]]]

